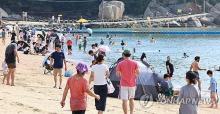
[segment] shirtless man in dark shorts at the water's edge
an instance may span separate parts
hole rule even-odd
[[[200,68],[200,66],[199,66],[200,57],[199,56],[196,56],[194,60],[195,61],[190,66],[190,71],[193,71],[196,74],[196,76],[197,76],[196,80],[198,81],[198,87],[199,87],[199,90],[201,91],[201,80],[199,77],[199,70],[206,70],[206,69]]]

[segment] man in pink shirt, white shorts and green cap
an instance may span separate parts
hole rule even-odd
[[[134,112],[134,98],[136,90],[136,78],[139,75],[138,64],[130,59],[131,53],[129,50],[123,52],[123,58],[118,63],[116,71],[120,77],[120,99],[122,99],[122,107],[124,114],[128,114],[128,100],[130,105],[130,114]]]

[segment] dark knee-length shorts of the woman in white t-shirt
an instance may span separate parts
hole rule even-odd
[[[105,111],[108,88],[106,85],[94,85],[94,93],[100,96],[100,100],[95,100],[96,110]]]

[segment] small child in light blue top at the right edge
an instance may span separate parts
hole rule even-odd
[[[207,71],[207,75],[210,77],[210,87],[209,90],[210,98],[211,98],[211,106],[210,108],[213,108],[215,105],[215,108],[218,108],[218,94],[217,94],[217,82],[215,78],[213,77],[213,72],[211,70]]]

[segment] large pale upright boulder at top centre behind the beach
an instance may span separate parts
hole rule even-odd
[[[121,1],[104,1],[99,5],[99,18],[117,20],[122,19],[124,3]]]

